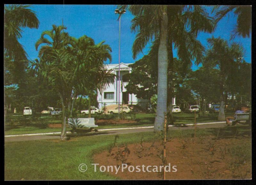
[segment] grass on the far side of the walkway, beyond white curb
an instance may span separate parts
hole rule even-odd
[[[199,115],[199,114],[196,114]],[[232,113],[226,113],[226,116],[230,116]],[[203,115],[200,113],[200,116],[196,118],[196,123],[205,123],[205,122],[216,122],[218,114],[209,114],[206,113]],[[16,116],[15,118],[17,118]],[[22,116],[21,116],[22,117]],[[87,115],[79,115],[79,117],[87,117]],[[117,115],[92,115],[95,119],[116,119]],[[191,124],[194,123],[194,114],[189,113],[176,113],[173,114],[174,124]],[[38,124],[32,122],[27,126],[5,126],[5,135],[16,135],[16,134],[32,134],[32,133],[47,133],[47,132],[60,132],[60,128],[49,128],[48,124],[60,124],[61,120],[57,120],[58,117],[52,117],[44,115],[40,119],[44,119],[43,124]],[[155,120],[155,114],[148,113],[138,113],[135,115],[136,123],[129,124],[113,124],[113,125],[99,125],[97,129],[109,129],[109,128],[127,128],[127,127],[140,127],[140,126],[153,126]],[[43,127],[44,128],[43,128]],[[67,131],[71,130],[67,128]]]

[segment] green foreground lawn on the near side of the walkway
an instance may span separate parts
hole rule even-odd
[[[169,132],[174,137],[191,137],[193,130]],[[152,132],[122,134],[117,145],[152,141]],[[214,129],[199,129],[197,137],[214,135]],[[94,172],[93,154],[100,153],[113,143],[115,135],[75,137],[69,141],[59,139],[7,142],[5,143],[5,180],[113,180],[116,177]],[[247,146],[241,146],[247,147]],[[247,150],[250,150],[250,148]],[[13,152],[15,151],[15,152]],[[88,169],[82,173],[78,166],[84,163]]]

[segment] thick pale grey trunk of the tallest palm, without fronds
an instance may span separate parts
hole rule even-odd
[[[164,10],[161,20],[160,44],[158,49],[157,106],[156,118],[154,123],[154,132],[164,130],[164,112],[167,112],[167,25],[168,17],[166,10]]]

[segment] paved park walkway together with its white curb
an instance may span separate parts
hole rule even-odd
[[[226,122],[214,122],[214,123],[198,123],[196,128],[219,128],[223,127]],[[169,125],[169,130],[187,130],[195,129],[194,124],[186,125]],[[116,128],[116,129],[98,129],[99,132],[89,132],[84,136],[99,136],[99,135],[113,135],[113,134],[128,134],[128,133],[139,133],[139,132],[153,132],[153,126],[146,127],[132,127],[132,128]],[[74,136],[67,132],[68,136]],[[38,133],[38,134],[20,134],[20,135],[7,135],[4,136],[5,142],[12,141],[29,141],[29,140],[41,140],[41,139],[59,139],[60,132],[50,133]]]

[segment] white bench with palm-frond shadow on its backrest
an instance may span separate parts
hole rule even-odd
[[[71,132],[83,132],[85,128],[89,128],[90,132],[94,132],[95,125],[94,118],[68,118],[68,125],[72,127]]]

